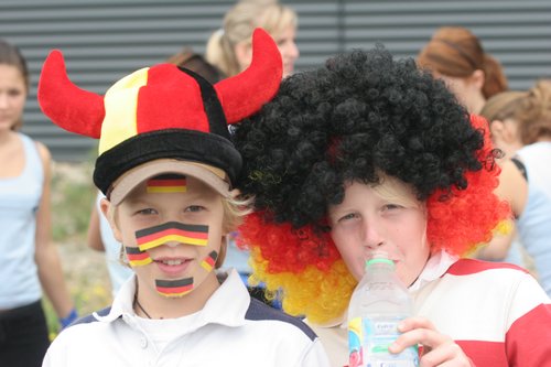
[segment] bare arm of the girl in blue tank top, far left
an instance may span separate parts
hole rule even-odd
[[[37,143],[37,147],[44,166],[44,186],[40,206],[36,212],[36,240],[34,257],[39,268],[39,278],[42,288],[52,302],[57,316],[63,319],[71,314],[73,310],[73,301],[69,298],[65,280],[63,278],[57,249],[51,240],[51,156],[48,150],[44,145]]]

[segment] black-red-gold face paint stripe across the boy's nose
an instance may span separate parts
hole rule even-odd
[[[137,230],[136,239],[142,251],[164,245],[169,241],[206,246],[208,242],[208,226],[169,222],[160,226]]]

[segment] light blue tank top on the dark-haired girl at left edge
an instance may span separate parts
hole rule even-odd
[[[0,309],[26,305],[42,296],[34,242],[44,172],[36,143],[19,137],[23,171],[17,177],[0,179]]]

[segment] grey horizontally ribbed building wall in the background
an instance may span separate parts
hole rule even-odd
[[[504,65],[511,89],[551,77],[549,0],[282,0],[299,13],[296,68],[338,52],[382,43],[398,57],[415,56],[442,25],[463,25]],[[29,61],[32,87],[23,131],[58,161],[94,156],[96,141],[66,133],[42,115],[36,83],[44,57],[61,48],[73,82],[98,94],[183,46],[204,51],[231,0],[2,0],[0,36]]]

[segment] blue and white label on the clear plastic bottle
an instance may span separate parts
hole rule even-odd
[[[391,354],[388,347],[400,335],[398,324],[404,317],[355,317],[348,323],[349,367],[415,367],[417,347]]]

